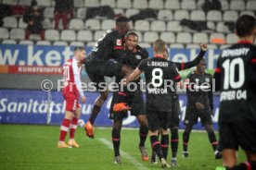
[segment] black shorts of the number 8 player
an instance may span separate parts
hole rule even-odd
[[[146,115],[149,130],[155,131],[159,128],[166,130],[168,128],[168,115],[170,115],[169,112],[147,110]]]

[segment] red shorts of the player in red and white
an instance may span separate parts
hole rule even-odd
[[[78,92],[63,91],[63,97],[66,101],[66,111],[75,112],[77,108],[80,108]]]

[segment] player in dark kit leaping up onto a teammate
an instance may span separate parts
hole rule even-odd
[[[112,30],[107,30],[106,33],[102,35],[84,62],[85,70],[89,78],[96,83],[96,88],[100,92],[93,106],[92,114],[84,126],[86,135],[89,138],[94,138],[93,125],[96,116],[100,112],[103,103],[105,103],[108,98],[108,91],[103,87],[103,83],[105,83],[104,76],[128,75],[133,71],[131,67],[109,61],[111,58],[117,59],[122,55],[122,39],[129,30],[129,19],[126,17],[117,18],[116,27]],[[102,89],[100,87],[102,87]]]

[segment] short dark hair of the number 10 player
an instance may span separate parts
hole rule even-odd
[[[237,19],[236,30],[239,37],[249,36],[254,27],[256,27],[256,20],[249,15],[242,15]]]

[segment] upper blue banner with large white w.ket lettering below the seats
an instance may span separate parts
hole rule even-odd
[[[90,53],[92,47],[85,48],[87,54]],[[147,51],[149,56],[153,55],[151,48],[147,48]],[[196,49],[171,49],[170,59],[174,62],[187,62],[193,60],[198,52]],[[207,69],[216,67],[219,54],[220,50],[207,51]],[[0,65],[4,66],[60,67],[72,55],[73,47],[70,46],[0,44]]]

